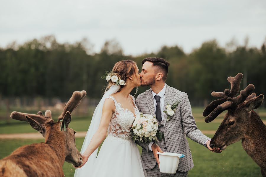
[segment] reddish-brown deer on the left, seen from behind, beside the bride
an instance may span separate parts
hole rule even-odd
[[[68,126],[70,113],[85,95],[85,91],[75,91],[58,122],[53,121],[50,110],[45,116],[40,111],[38,115],[12,112],[12,119],[29,122],[45,137],[45,142],[22,146],[0,160],[0,176],[64,176],[64,161],[80,166],[82,155],[76,148],[76,132]]]

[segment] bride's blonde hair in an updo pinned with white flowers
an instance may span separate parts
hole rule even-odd
[[[126,81],[126,78],[132,76],[133,74],[136,75],[136,71],[135,71],[136,65],[137,65],[137,63],[132,61],[132,60],[121,60],[113,66],[112,73],[113,73],[113,75],[117,76],[118,78]],[[115,85],[115,83],[110,80],[105,91],[110,89],[110,87],[112,85]],[[121,90],[122,87],[124,87],[124,86],[120,86],[119,91]],[[136,93],[137,93],[137,91],[136,91]]]

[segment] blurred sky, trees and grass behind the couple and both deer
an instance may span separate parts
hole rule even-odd
[[[212,91],[230,89],[228,76],[243,73],[240,89],[252,83],[257,95],[266,93],[266,2],[1,1],[0,158],[43,141],[29,138],[36,131],[12,120],[12,111],[50,109],[56,120],[72,93],[85,90],[70,123],[81,132],[80,149],[107,84],[101,76],[124,59],[141,70],[147,57],[170,62],[166,83],[188,94],[197,126],[212,137],[224,114],[205,123],[202,112],[215,99]],[[266,124],[265,101],[256,112]],[[221,154],[189,145],[195,164],[189,176],[260,175],[241,142]],[[64,172],[73,176],[74,168],[65,163]]]

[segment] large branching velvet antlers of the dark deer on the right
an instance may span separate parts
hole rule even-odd
[[[221,99],[214,100],[204,110],[203,116],[205,122],[211,122],[221,112],[229,108],[235,108],[238,104],[244,102],[249,94],[254,90],[254,86],[249,84],[246,89],[240,91],[240,95],[235,97],[239,91],[242,73],[238,73],[235,77],[228,77],[227,81],[231,83],[231,90],[225,89],[224,92],[212,92],[212,96],[219,97]],[[235,97],[235,98],[234,98]]]

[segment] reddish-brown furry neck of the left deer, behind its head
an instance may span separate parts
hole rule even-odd
[[[66,137],[64,133],[61,131],[47,132],[45,143],[54,150],[61,166],[63,166],[66,157]]]

